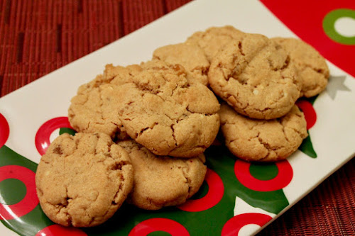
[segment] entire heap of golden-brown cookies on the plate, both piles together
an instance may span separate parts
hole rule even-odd
[[[77,134],[56,138],[38,165],[40,206],[55,223],[90,227],[124,201],[180,205],[200,189],[220,127],[236,157],[285,159],[307,136],[295,101],[320,93],[328,77],[302,41],[231,26],[160,47],[139,65],[108,64],[72,98]]]

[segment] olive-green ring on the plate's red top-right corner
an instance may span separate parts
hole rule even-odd
[[[337,9],[330,11],[323,18],[323,30],[329,38],[337,43],[342,43],[344,45],[355,45],[355,36],[346,37],[339,34],[337,30],[335,30],[335,22],[342,17],[350,17],[355,20],[355,11],[351,9]]]

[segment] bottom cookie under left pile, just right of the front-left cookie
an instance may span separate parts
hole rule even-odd
[[[118,145],[131,157],[134,185],[127,201],[138,208],[158,210],[185,203],[204,181],[204,154],[189,159],[156,156],[133,140]]]

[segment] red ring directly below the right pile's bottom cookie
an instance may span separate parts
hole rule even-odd
[[[287,160],[276,162],[278,175],[273,179],[260,180],[251,175],[250,162],[237,159],[234,164],[234,174],[241,184],[255,191],[275,191],[285,188],[293,178],[293,169]]]

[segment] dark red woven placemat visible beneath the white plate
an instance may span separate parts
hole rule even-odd
[[[0,94],[9,94],[187,2],[0,0]],[[352,159],[259,235],[355,235],[354,167]]]

